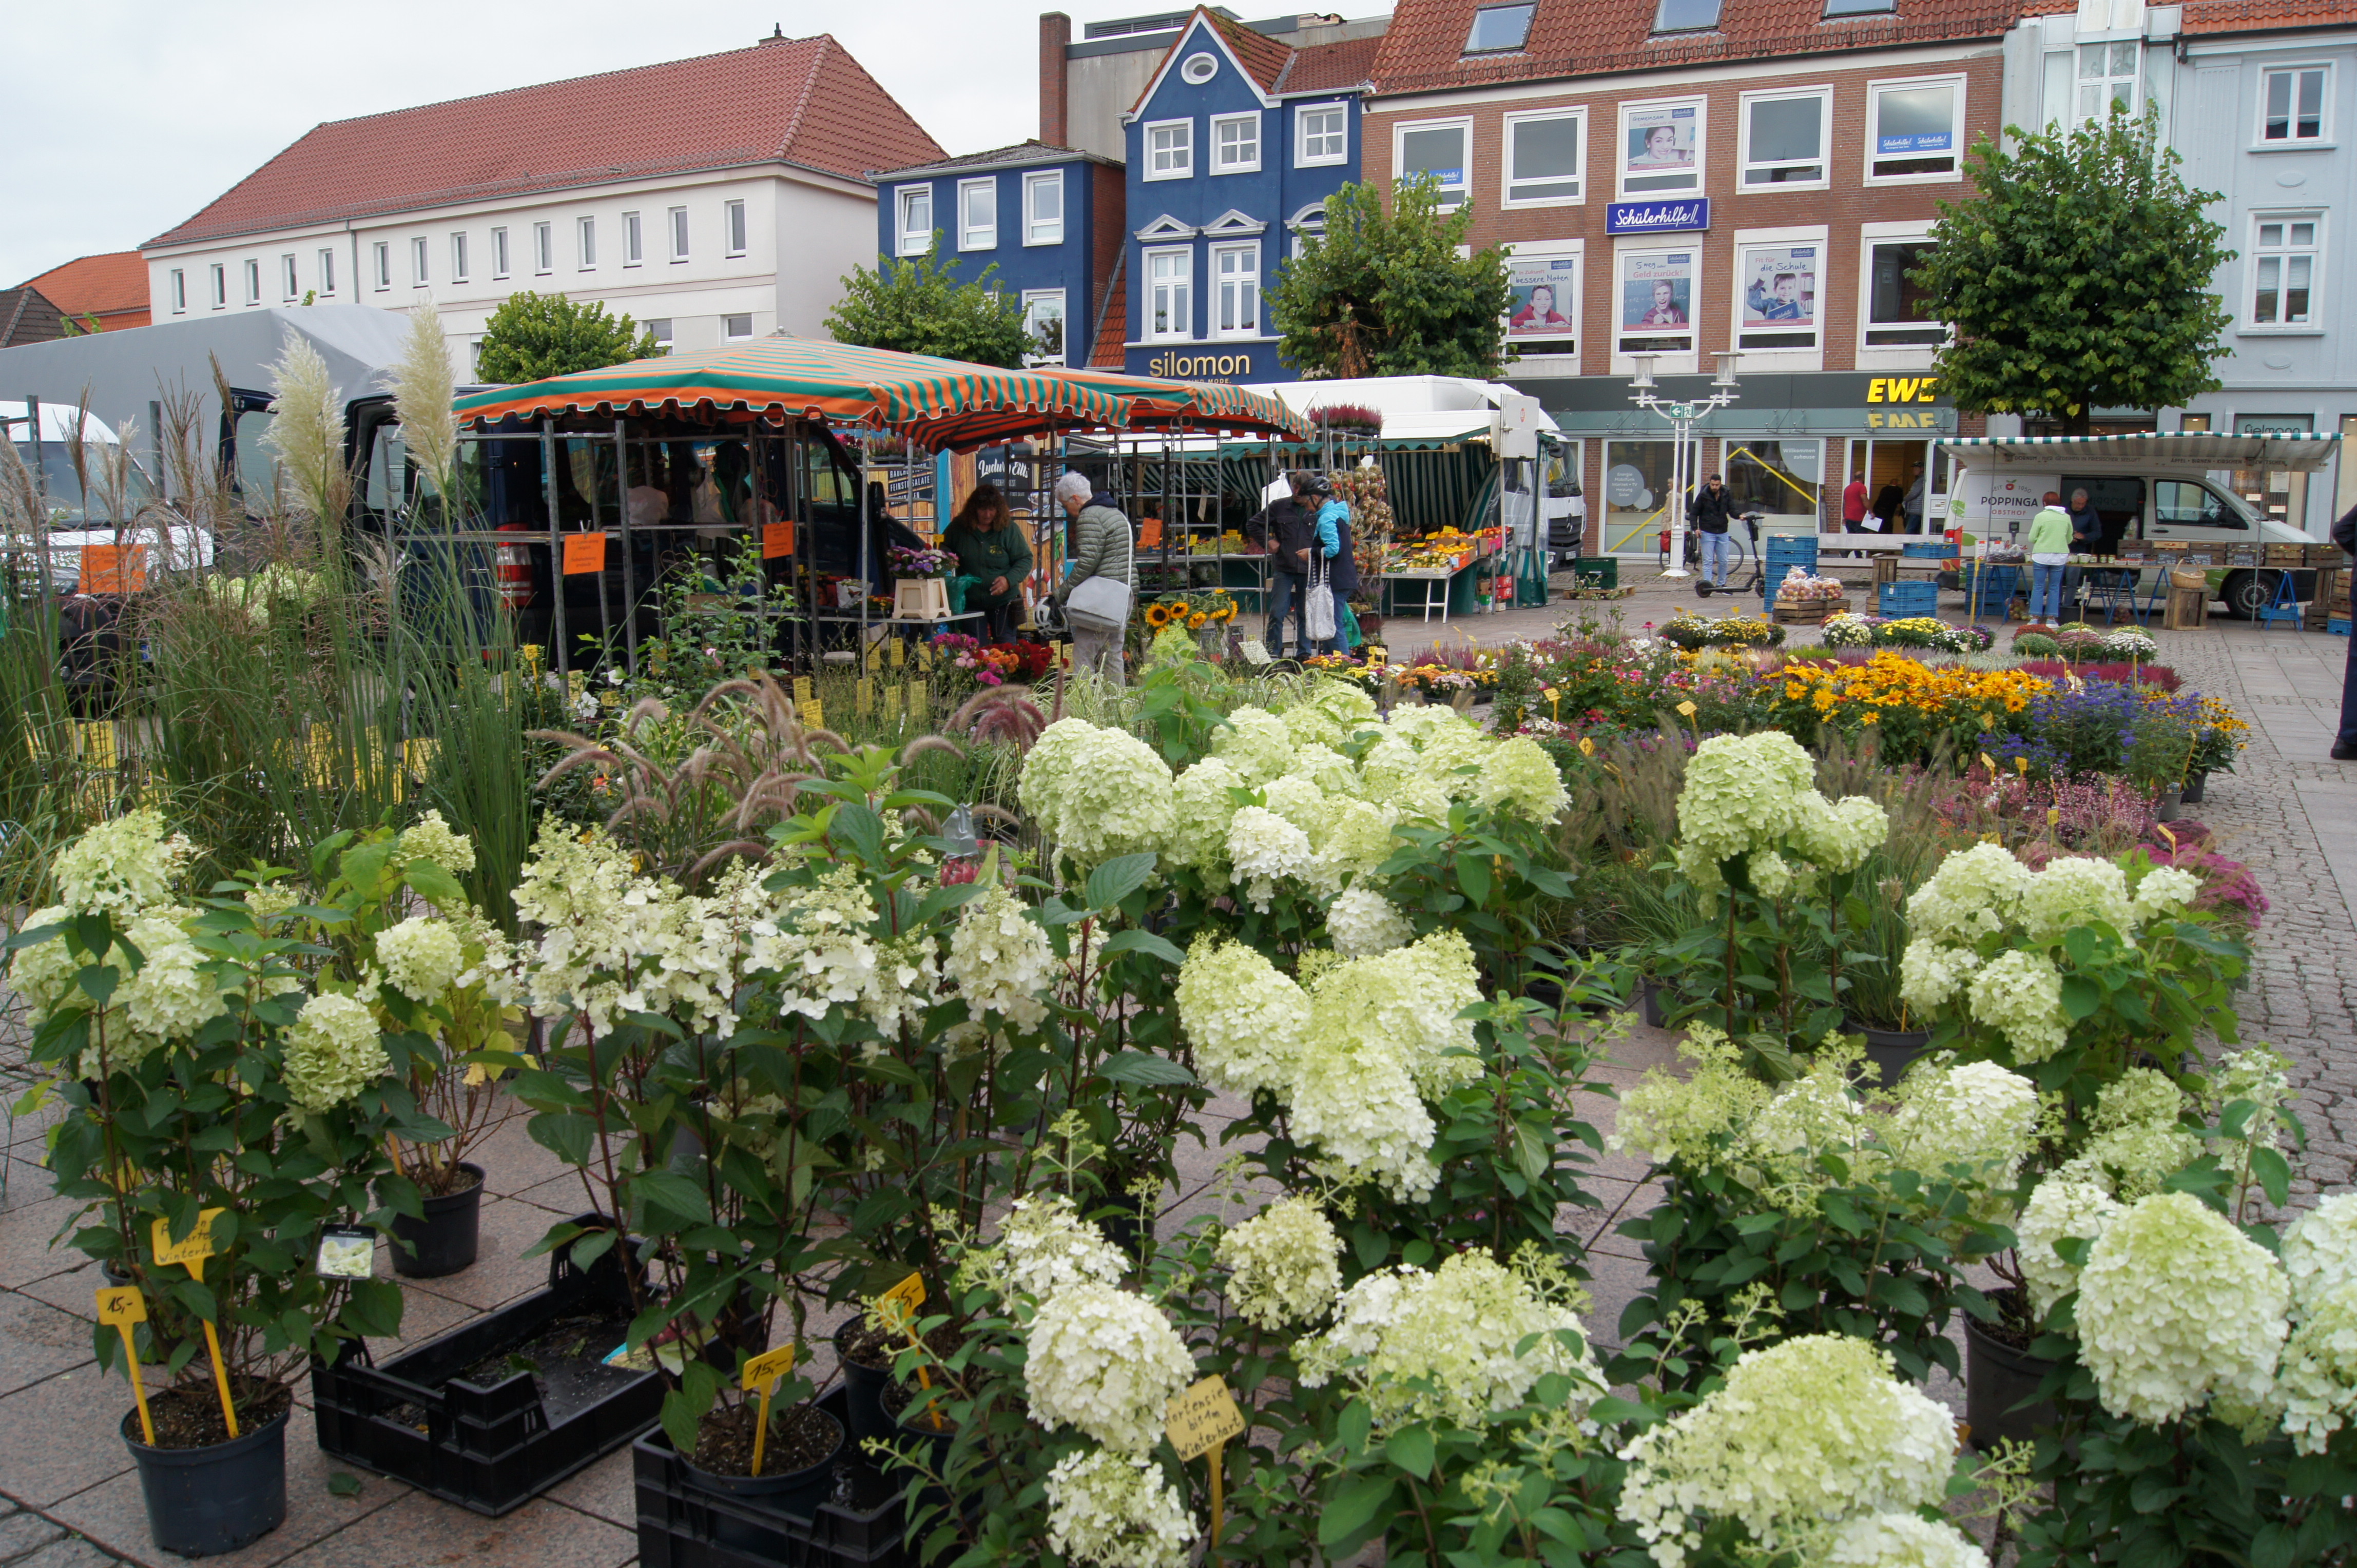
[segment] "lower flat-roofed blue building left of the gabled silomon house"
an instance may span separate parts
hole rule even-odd
[[[870,174],[877,252],[943,261],[1023,301],[1035,365],[1087,365],[1122,257],[1122,165],[1044,141]]]

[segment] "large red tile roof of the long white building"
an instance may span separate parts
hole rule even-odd
[[[768,38],[318,125],[148,247],[761,162],[865,181],[940,155],[834,38]]]

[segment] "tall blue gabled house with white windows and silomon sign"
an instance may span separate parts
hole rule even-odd
[[[1296,47],[1195,9],[1124,118],[1127,252],[1115,290],[1134,374],[1292,381],[1266,285],[1358,179],[1379,35]],[[1110,325],[1110,323],[1108,323]]]

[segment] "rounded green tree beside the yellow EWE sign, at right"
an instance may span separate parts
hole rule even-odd
[[[2159,146],[2150,111],[1973,146],[1980,200],[1940,202],[1912,280],[1954,341],[1937,370],[1956,407],[2044,414],[2084,436],[2098,407],[2176,407],[2218,391],[2232,320],[2211,280],[2225,228]]]

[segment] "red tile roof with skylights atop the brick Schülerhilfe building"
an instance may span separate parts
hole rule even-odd
[[[1650,0],[1537,0],[1530,40],[1518,54],[1464,59],[1473,12],[1485,2],[1400,0],[1374,59],[1376,92],[1440,92],[1777,54],[2001,38],[2022,12],[2022,0],[1895,0],[1895,12],[1888,14],[1827,19],[1824,0],[1725,0],[1718,31],[1655,38]],[[2272,2],[2345,5],[2345,0]]]

